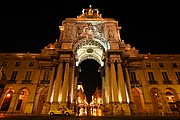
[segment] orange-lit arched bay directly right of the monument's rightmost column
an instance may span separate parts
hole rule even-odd
[[[134,103],[138,113],[145,113],[145,102],[142,91],[139,88],[132,88]]]

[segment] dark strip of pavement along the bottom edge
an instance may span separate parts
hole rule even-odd
[[[0,115],[0,120],[180,120],[180,116],[40,116]]]

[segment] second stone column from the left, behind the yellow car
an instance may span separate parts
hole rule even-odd
[[[54,88],[54,96],[53,96],[53,102],[51,105],[51,109],[58,109],[58,99],[59,99],[59,92],[61,92],[61,86],[62,86],[62,74],[63,74],[63,61],[61,60],[59,62],[59,66],[57,69],[56,79],[55,79],[55,88]]]

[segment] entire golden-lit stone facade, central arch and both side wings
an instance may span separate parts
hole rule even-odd
[[[0,54],[1,81],[6,80],[1,111],[47,114],[62,105],[73,108],[79,65],[93,59],[100,65],[106,113],[178,113],[180,55],[139,54],[121,39],[118,22],[91,6],[59,29],[59,39],[41,53]]]

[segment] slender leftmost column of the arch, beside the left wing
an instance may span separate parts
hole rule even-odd
[[[48,94],[46,98],[46,103],[43,105],[42,114],[46,114],[50,110],[50,104],[51,104],[50,99],[52,96],[52,90],[53,90],[53,85],[54,85],[55,69],[56,67],[53,66],[52,72],[51,72],[50,83],[49,83],[50,85],[49,85]]]

